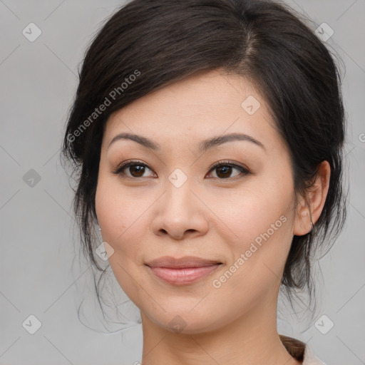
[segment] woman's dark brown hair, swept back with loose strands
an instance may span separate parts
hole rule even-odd
[[[306,196],[323,160],[331,167],[322,214],[312,232],[294,236],[281,283],[291,303],[297,289],[312,302],[312,254],[334,241],[346,219],[345,118],[339,68],[301,18],[289,6],[264,0],[133,0],[110,16],[78,72],[62,146],[76,174],[73,208],[93,266],[102,270],[93,232],[108,117],[151,91],[221,68],[251,81],[267,102],[289,149],[296,193]],[[110,105],[91,122],[106,98]]]

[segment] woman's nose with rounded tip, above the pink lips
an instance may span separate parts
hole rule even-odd
[[[207,207],[199,190],[188,179],[176,187],[168,181],[163,195],[155,203],[153,232],[173,240],[191,239],[205,235],[209,228]]]

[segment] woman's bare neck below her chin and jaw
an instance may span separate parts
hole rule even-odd
[[[204,333],[175,333],[143,313],[142,365],[299,365],[277,333],[276,305],[263,304],[225,327]],[[271,312],[269,310],[271,309]]]

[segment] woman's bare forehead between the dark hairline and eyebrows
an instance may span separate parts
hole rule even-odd
[[[103,144],[123,132],[149,136],[163,145],[227,133],[246,133],[262,143],[280,138],[255,86],[221,70],[185,78],[117,110],[106,123]]]

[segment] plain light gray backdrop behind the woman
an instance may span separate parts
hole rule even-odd
[[[331,26],[334,35],[327,43],[346,66],[350,195],[344,232],[317,264],[314,322],[300,317],[302,309],[298,319],[281,306],[279,333],[308,341],[329,365],[365,364],[365,0],[287,3],[317,26]],[[140,361],[140,325],[123,331],[108,327],[114,332],[107,334],[98,320],[91,268],[76,256],[72,192],[58,158],[78,63],[104,19],[121,4],[0,0],[0,364]],[[22,34],[31,22],[42,32],[33,42]],[[89,309],[86,325],[77,314],[83,299]],[[26,330],[36,323],[29,322],[30,315],[41,322],[34,334]],[[322,315],[328,317],[319,321],[322,327],[334,322],[327,334],[315,326]]]

